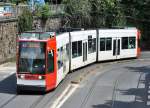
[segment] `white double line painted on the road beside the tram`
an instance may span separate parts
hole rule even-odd
[[[69,84],[50,108],[60,108],[65,103],[65,101],[75,92],[77,88],[77,84]]]

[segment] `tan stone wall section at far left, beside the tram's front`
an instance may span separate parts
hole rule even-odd
[[[5,20],[0,22],[0,63],[15,57],[16,32],[16,20]]]

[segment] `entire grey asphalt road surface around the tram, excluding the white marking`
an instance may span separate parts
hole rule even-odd
[[[150,52],[140,59],[97,63],[67,75],[46,94],[16,94],[15,65],[0,66],[0,108],[50,108],[70,81],[81,73],[93,71],[79,84],[62,108],[144,108],[148,107]]]

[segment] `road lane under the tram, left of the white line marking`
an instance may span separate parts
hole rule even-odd
[[[59,86],[46,94],[39,92],[16,93],[15,63],[0,65],[0,108],[50,108],[70,82],[95,65],[70,72]]]

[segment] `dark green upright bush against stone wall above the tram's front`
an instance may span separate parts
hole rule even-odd
[[[19,33],[32,30],[33,17],[28,9],[24,9],[23,13],[18,17]]]

